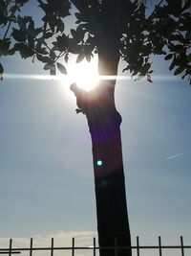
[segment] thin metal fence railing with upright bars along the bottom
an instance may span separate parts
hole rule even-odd
[[[161,238],[158,237],[158,244],[157,245],[140,245],[139,244],[139,238],[137,237],[137,243],[136,245],[132,245],[131,248],[134,252],[134,255],[140,256],[140,250],[145,249],[156,249],[158,250],[157,254],[162,256],[163,255],[163,249],[180,249],[180,256],[185,256],[185,249],[191,249],[191,245],[184,245],[183,244],[183,237],[180,236],[180,244],[178,245],[162,245],[161,244]],[[13,240],[10,239],[9,246],[8,247],[0,247],[0,254],[5,254],[8,256],[14,255],[14,254],[21,254],[22,252],[28,252],[29,256],[32,256],[34,251],[48,251],[50,255],[53,256],[54,251],[70,251],[70,255],[74,256],[75,252],[77,250],[89,250],[92,251],[91,255],[96,256],[98,255],[98,250],[101,249],[111,249],[115,250],[115,256],[117,256],[118,251],[120,249],[128,249],[130,246],[117,246],[117,239],[115,239],[115,245],[110,247],[99,247],[96,245],[96,238],[93,238],[93,245],[90,246],[75,246],[75,240],[72,239],[72,245],[71,246],[54,246],[54,239],[51,239],[51,246],[33,246],[33,239],[30,239],[30,246],[29,247],[14,247],[12,246]],[[191,250],[189,255],[191,255]]]

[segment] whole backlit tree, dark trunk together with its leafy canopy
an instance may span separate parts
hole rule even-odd
[[[88,121],[93,145],[96,186],[96,214],[100,246],[130,246],[124,172],[122,163],[121,116],[115,105],[117,66],[126,63],[135,80],[151,80],[152,56],[171,61],[174,75],[191,84],[191,1],[161,0],[152,12],[145,1],[131,0],[37,0],[41,22],[25,16],[22,8],[29,0],[3,0],[0,3],[1,56],[19,53],[21,58],[44,63],[55,75],[69,55],[76,62],[98,56],[99,75],[107,76],[96,89],[86,92],[72,84],[78,108]],[[73,7],[75,26],[65,33],[64,19]],[[60,59],[60,60],[59,60]],[[58,62],[59,60],[59,62]],[[60,63],[61,62],[61,63]],[[0,76],[3,79],[3,66]],[[114,255],[100,249],[101,256]],[[131,256],[131,249],[120,249],[120,256]]]

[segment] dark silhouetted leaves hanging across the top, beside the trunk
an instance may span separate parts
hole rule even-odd
[[[1,0],[0,56],[18,52],[21,58],[43,62],[44,69],[52,75],[56,69],[67,74],[62,63],[68,62],[69,54],[76,55],[76,62],[94,57],[100,20],[105,18],[102,12],[105,1],[37,0],[42,13],[40,23],[32,16],[23,15],[22,9],[28,2]],[[147,76],[151,81],[151,59],[161,55],[170,61],[169,70],[173,70],[174,75],[181,74],[181,79],[186,77],[191,84],[191,0],[161,0],[151,13],[143,2],[121,0],[118,50],[126,63],[123,71],[129,70],[132,76]],[[74,13],[75,26],[66,35],[65,18],[71,14],[72,4],[79,12]],[[0,64],[0,79],[3,72]]]

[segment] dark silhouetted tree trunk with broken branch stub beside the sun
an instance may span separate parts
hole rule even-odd
[[[96,48],[99,75],[108,76],[89,93],[76,86],[72,90],[77,105],[90,128],[96,187],[96,216],[100,247],[131,246],[127,215],[125,181],[121,151],[121,117],[115,105],[115,85],[119,61],[120,1],[101,1],[96,26]],[[111,77],[114,79],[111,80]],[[115,242],[116,241],[116,242]],[[100,256],[131,256],[131,248],[100,248]]]

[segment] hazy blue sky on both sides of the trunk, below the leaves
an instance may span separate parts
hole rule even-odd
[[[1,61],[10,74],[45,75],[17,56]],[[132,240],[190,243],[191,87],[161,58],[154,69],[153,83],[117,82]],[[91,139],[74,109],[64,81],[0,83],[0,237],[96,231]]]

